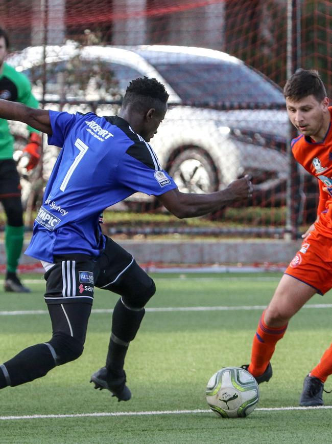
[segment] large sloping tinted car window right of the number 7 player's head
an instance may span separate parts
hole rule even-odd
[[[153,65],[183,102],[284,104],[276,86],[242,64],[186,61]]]

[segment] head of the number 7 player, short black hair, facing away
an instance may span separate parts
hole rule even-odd
[[[149,142],[166,114],[168,98],[165,87],[158,80],[139,77],[129,83],[119,115]]]

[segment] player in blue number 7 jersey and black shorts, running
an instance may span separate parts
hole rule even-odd
[[[147,77],[130,82],[118,116],[35,110],[0,100],[0,117],[25,122],[62,147],[26,251],[45,269],[53,335],[0,365],[0,388],[32,381],[82,354],[96,286],[120,299],[106,365],[91,382],[118,400],[130,399],[125,356],[155,284],[130,253],[102,234],[101,213],[135,192],[155,195],[179,218],[201,216],[252,195],[247,176],[215,193],[178,190],[148,143],[165,116],[167,100],[164,86]]]

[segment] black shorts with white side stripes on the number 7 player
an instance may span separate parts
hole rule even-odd
[[[106,238],[105,249],[97,259],[74,254],[55,257],[54,261],[44,274],[47,304],[92,304],[94,286],[112,290],[112,284],[130,272],[131,266],[138,267],[133,256],[110,238]]]

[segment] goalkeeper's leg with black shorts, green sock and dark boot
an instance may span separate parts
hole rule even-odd
[[[24,226],[19,176],[15,162],[12,159],[3,160],[0,166],[0,174],[0,199],[7,217],[5,228],[7,259],[5,291],[29,292],[30,290],[21,284],[16,274],[23,246]]]

